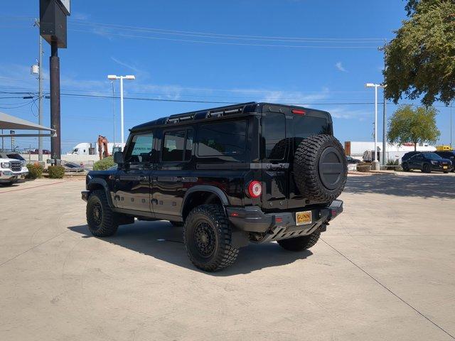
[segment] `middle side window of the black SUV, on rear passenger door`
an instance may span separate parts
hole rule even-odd
[[[162,161],[188,161],[193,153],[193,129],[166,131]]]

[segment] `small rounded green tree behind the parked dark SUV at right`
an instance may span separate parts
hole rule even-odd
[[[387,139],[391,144],[412,142],[414,151],[419,142],[436,143],[441,134],[436,126],[437,110],[433,107],[403,105],[390,117]]]

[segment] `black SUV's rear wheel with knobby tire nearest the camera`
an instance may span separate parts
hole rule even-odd
[[[203,233],[207,243],[204,243]],[[200,205],[190,212],[183,226],[183,244],[191,262],[210,272],[232,265],[239,252],[232,247],[230,222],[221,205]]]

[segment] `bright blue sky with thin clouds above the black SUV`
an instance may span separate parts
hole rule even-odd
[[[303,103],[331,112],[341,141],[371,141],[374,106],[361,103],[373,102],[374,93],[364,84],[382,82],[382,53],[376,47],[393,38],[405,18],[404,5],[397,0],[73,0],[68,48],[59,50],[61,92],[110,96],[107,75],[133,74],[137,80],[124,84],[126,97]],[[2,4],[0,91],[37,91],[29,69],[38,57],[38,30],[31,20],[38,16],[38,0]],[[45,92],[49,54],[44,42]],[[118,95],[119,84],[114,85]],[[29,102],[0,98],[0,111],[36,121],[37,108]],[[125,134],[144,121],[219,105],[126,99]],[[43,107],[50,125],[48,99]],[[115,109],[119,141],[119,100]],[[389,105],[388,114],[395,109]],[[440,142],[448,144],[450,109],[437,109]],[[382,107],[380,113],[378,140]],[[65,95],[61,118],[63,151],[95,142],[98,134],[113,141],[112,99]],[[33,138],[16,140],[21,148],[37,144]]]

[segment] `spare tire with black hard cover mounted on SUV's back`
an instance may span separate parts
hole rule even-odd
[[[332,202],[343,192],[348,164],[340,141],[331,135],[304,139],[294,155],[294,180],[305,199]]]

